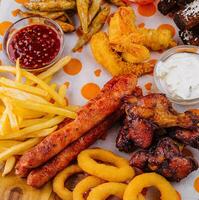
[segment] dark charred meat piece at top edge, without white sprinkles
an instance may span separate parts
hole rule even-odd
[[[184,7],[193,0],[160,0],[158,3],[158,10],[163,14],[167,15],[170,12],[175,12],[180,8]]]

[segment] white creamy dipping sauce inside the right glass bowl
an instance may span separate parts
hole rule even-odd
[[[176,53],[157,66],[157,77],[172,97],[199,98],[199,55]]]

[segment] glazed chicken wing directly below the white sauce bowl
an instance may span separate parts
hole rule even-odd
[[[130,118],[146,119],[162,128],[175,126],[191,128],[199,123],[199,115],[191,111],[177,113],[164,94],[131,98],[130,103],[126,105],[125,112]]]

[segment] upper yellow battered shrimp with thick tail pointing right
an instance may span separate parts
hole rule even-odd
[[[130,7],[120,7],[111,18],[109,41],[112,45],[120,45],[125,48],[136,43],[155,51],[176,46],[169,30],[146,29],[135,26],[135,14]]]

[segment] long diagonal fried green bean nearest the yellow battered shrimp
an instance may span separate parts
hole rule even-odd
[[[109,13],[110,13],[110,6],[108,4],[105,4],[102,10],[97,14],[97,16],[92,21],[89,27],[89,32],[87,34],[83,34],[77,41],[77,44],[73,48],[74,52],[83,47],[86,43],[88,43],[89,40],[92,38],[92,36],[101,30],[104,23],[106,22]]]

